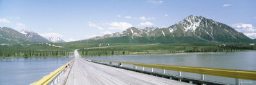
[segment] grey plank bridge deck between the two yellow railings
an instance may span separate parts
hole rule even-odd
[[[131,70],[114,68],[102,64],[87,62],[75,51],[75,61],[66,80],[67,85],[80,84],[188,84],[172,79],[137,73]]]

